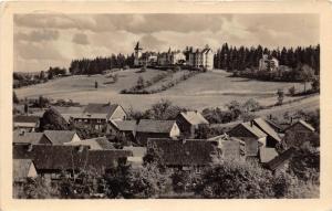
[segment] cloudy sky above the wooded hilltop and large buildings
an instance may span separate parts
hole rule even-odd
[[[319,44],[318,14],[15,14],[14,71],[69,67],[74,59],[144,51]]]

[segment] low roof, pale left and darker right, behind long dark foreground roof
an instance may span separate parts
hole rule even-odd
[[[84,139],[84,140],[79,140],[79,141],[64,143],[64,145],[89,146],[90,150],[115,149],[113,144],[110,143],[106,137],[97,137],[97,138]]]

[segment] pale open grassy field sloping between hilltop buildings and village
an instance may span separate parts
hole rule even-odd
[[[286,93],[293,85],[297,91],[303,89],[303,84],[299,83],[259,82],[240,77],[229,77],[229,73],[212,71],[198,74],[158,94],[120,94],[121,89],[135,85],[139,75],[144,80],[149,80],[160,73],[157,70],[147,70],[143,73],[135,73],[136,71],[138,70],[116,72],[118,75],[116,83],[112,83],[113,80],[105,75],[74,75],[54,80],[45,84],[19,88],[15,92],[20,98],[43,95],[54,99],[73,99],[81,104],[112,102],[118,103],[125,108],[133,107],[139,110],[146,109],[162,98],[167,98],[176,105],[200,110],[205,107],[222,107],[232,99],[245,102],[249,98],[256,98],[262,105],[271,105],[277,102],[276,93],[278,88],[283,88]],[[176,73],[174,76],[183,73]],[[98,82],[97,89],[94,88],[95,81]],[[284,101],[289,99],[291,98],[284,97]]]

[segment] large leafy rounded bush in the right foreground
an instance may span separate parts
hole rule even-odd
[[[272,176],[258,165],[225,161],[203,173],[201,183],[195,192],[204,198],[272,198]]]

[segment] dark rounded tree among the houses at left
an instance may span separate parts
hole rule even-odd
[[[53,107],[49,108],[40,123],[41,130],[52,129],[52,130],[69,130],[66,120],[61,116],[61,114]]]

